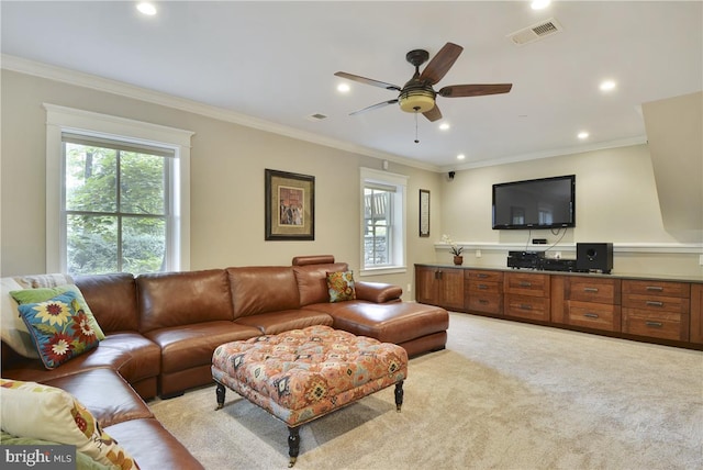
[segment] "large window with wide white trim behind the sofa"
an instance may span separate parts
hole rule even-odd
[[[192,133],[44,107],[47,271],[189,269]]]

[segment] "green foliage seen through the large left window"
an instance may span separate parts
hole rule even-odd
[[[168,158],[65,143],[71,275],[164,269]]]

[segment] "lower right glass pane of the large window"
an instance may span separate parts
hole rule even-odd
[[[161,217],[122,220],[122,270],[158,272],[166,255],[166,221]]]

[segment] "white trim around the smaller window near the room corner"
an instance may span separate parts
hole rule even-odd
[[[394,186],[400,195],[402,203],[401,206],[398,208],[398,204],[394,204],[394,209],[398,212],[397,216],[402,219],[402,223],[394,223],[397,234],[395,242],[400,242],[400,248],[397,247],[397,251],[393,254],[393,260],[398,260],[398,257],[401,258],[401,262],[397,262],[393,266],[384,266],[379,268],[367,268],[364,260],[364,188],[367,182],[375,182],[379,184]],[[397,275],[403,273],[408,271],[406,260],[408,260],[408,237],[406,237],[406,225],[408,225],[408,214],[406,214],[406,188],[408,188],[408,177],[405,175],[391,174],[388,171],[379,171],[372,168],[360,168],[360,178],[359,178],[359,204],[360,204],[360,214],[361,220],[359,223],[359,243],[360,243],[360,272],[359,276],[381,276],[381,275]],[[400,233],[398,233],[400,232]]]

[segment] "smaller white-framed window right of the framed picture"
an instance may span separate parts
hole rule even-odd
[[[405,271],[403,175],[361,168],[361,275]]]

